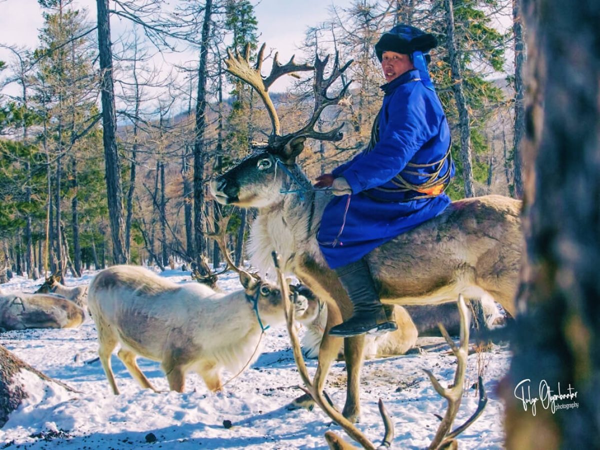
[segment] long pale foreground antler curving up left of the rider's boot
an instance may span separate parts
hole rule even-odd
[[[286,313],[287,320],[287,332],[290,335],[290,340],[292,341],[292,350],[294,354],[294,359],[296,361],[296,367],[298,367],[298,371],[300,373],[300,377],[302,378],[302,382],[306,386],[305,392],[310,394],[314,401],[321,407],[323,412],[325,412],[332,420],[341,425],[346,433],[349,434],[352,439],[358,442],[366,449],[375,450],[376,448],[385,449],[389,448],[392,440],[394,439],[394,426],[392,425],[392,421],[389,418],[388,413],[383,406],[383,402],[379,400],[379,412],[383,419],[383,424],[385,425],[385,436],[383,437],[382,445],[376,447],[364,434],[361,433],[358,428],[348,419],[346,419],[340,412],[335,410],[334,407],[329,404],[329,402],[323,396],[323,393],[317,389],[317,387],[311,382],[310,376],[308,376],[308,370],[306,367],[306,363],[304,361],[304,356],[302,356],[302,349],[300,347],[300,341],[298,340],[298,334],[296,334],[296,329],[294,327],[294,308],[292,303],[290,302],[289,295],[289,286],[286,281],[286,278],[281,272],[280,269],[280,260],[277,253],[274,251],[272,253],[273,261],[275,263],[275,270],[277,271],[277,279],[279,281],[281,287],[281,297],[284,299],[285,308],[284,311]],[[325,433],[325,439],[329,443],[329,448],[331,449],[354,449],[355,447],[350,445],[347,442],[344,442],[339,436],[337,436],[332,431],[327,431]]]

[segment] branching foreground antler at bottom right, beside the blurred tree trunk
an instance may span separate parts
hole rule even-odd
[[[485,408],[485,405],[487,404],[487,395],[485,394],[484,383],[480,376],[478,383],[479,403],[477,410],[475,413],[473,413],[469,420],[464,422],[463,425],[456,428],[454,431],[452,431],[452,433],[449,433],[452,423],[454,422],[454,419],[458,413],[458,409],[460,409],[460,403],[463,398],[464,376],[467,371],[467,356],[469,355],[469,310],[467,309],[467,305],[465,304],[462,295],[458,296],[458,313],[460,316],[460,344],[458,347],[448,335],[446,328],[444,328],[441,323],[438,325],[443,337],[451,347],[452,353],[454,353],[454,356],[457,358],[457,368],[456,373],[454,374],[454,385],[451,388],[443,388],[442,385],[440,385],[440,383],[437,381],[436,377],[433,376],[433,373],[431,373],[429,370],[425,370],[425,373],[427,373],[429,376],[429,379],[431,380],[434,389],[436,389],[436,392],[448,401],[448,409],[446,409],[446,414],[444,415],[442,423],[437,429],[436,436],[433,438],[433,441],[429,446],[429,448],[432,450],[453,448],[452,445],[455,445],[454,438],[466,430],[467,427],[469,427],[479,418]]]

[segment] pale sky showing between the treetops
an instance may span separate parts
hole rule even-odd
[[[302,44],[307,28],[326,20],[332,5],[347,7],[351,0],[259,0],[253,3],[258,20],[259,43],[265,42],[269,49],[276,49],[280,52],[280,61],[287,62]],[[75,0],[73,6],[87,8],[89,19],[95,21],[94,0]],[[113,17],[113,41],[127,25],[124,20]],[[35,48],[38,45],[38,30],[42,26],[43,17],[37,0],[0,0],[0,44]],[[179,58],[185,61],[196,56],[184,53],[169,58],[169,61]],[[0,49],[0,60],[10,62],[10,52]],[[271,91],[285,89],[286,80],[278,81]]]

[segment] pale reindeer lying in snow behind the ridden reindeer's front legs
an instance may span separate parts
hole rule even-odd
[[[296,320],[306,327],[302,338],[304,356],[305,358],[317,358],[327,324],[328,310],[335,308],[335,305],[327,305],[320,301],[308,287],[302,284],[290,287],[292,292],[296,293],[294,296]],[[388,307],[394,308],[398,329],[380,336],[367,335],[363,350],[365,359],[404,355],[415,346],[418,337],[417,327],[406,309],[400,305],[387,305],[386,308]],[[343,347],[342,345],[338,353],[338,359],[344,358]]]

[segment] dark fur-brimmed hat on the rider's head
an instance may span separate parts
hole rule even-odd
[[[416,51],[427,53],[434,47],[437,47],[437,39],[433,34],[401,23],[382,34],[382,37],[375,44],[375,53],[379,61],[381,61],[383,52],[410,55]]]

